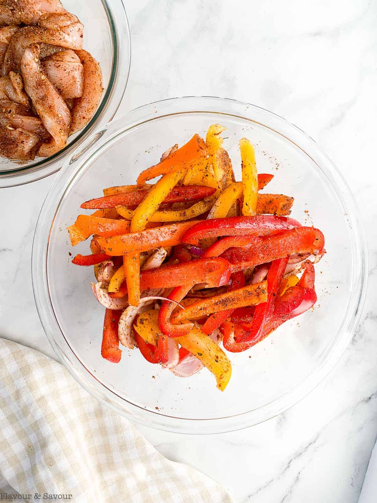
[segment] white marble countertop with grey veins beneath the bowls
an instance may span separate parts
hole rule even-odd
[[[377,434],[377,4],[367,0],[138,0],[127,5],[129,84],[120,112],[184,95],[272,110],[324,148],[357,198],[369,295],[352,343],[308,397],[244,431],[190,437],[140,428],[235,501],[354,503]],[[53,356],[35,309],[33,232],[52,178],[0,192],[0,336]]]

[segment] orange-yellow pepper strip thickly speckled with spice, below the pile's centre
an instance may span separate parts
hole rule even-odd
[[[197,319],[227,309],[253,306],[267,301],[267,281],[248,285],[237,290],[215,295],[209,299],[200,300],[187,306],[185,309],[173,314],[170,318],[172,323],[186,319]]]

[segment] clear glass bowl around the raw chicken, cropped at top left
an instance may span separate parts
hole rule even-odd
[[[93,128],[112,120],[122,101],[131,63],[130,30],[122,0],[91,0],[90,7],[87,2],[63,0],[63,6],[84,25],[83,48],[101,64],[104,93],[100,105],[88,124],[70,136],[60,152],[27,162],[0,157],[0,188],[34,182],[56,173]]]

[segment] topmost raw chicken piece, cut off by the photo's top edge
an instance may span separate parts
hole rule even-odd
[[[55,12],[64,12],[59,0],[0,0],[0,24],[4,25],[32,25]]]

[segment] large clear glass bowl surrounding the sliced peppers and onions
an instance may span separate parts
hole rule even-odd
[[[295,197],[292,216],[319,227],[327,255],[316,266],[318,303],[247,352],[228,354],[232,377],[222,393],[203,369],[175,377],[123,349],[119,364],[101,357],[104,308],[90,289],[92,268],[72,266],[66,227],[82,201],[104,187],[133,184],[174,143],[204,135],[220,123],[236,178],[238,140],[255,145],[259,173],[273,173],[268,192]],[[82,212],[82,210],[81,210]],[[366,289],[366,244],[355,201],[317,144],[281,117],[220,98],[176,98],[145,105],[103,126],[66,161],[44,201],[36,226],[32,276],[46,335],[75,379],[120,414],[146,426],[194,434],[245,428],[303,398],[334,367],[348,345]]]

